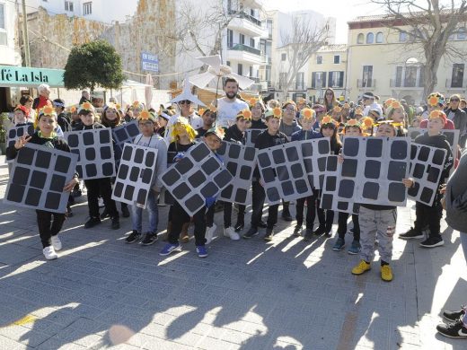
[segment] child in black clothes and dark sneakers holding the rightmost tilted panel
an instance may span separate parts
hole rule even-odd
[[[434,109],[429,113],[427,121],[427,132],[415,138],[416,144],[427,144],[432,147],[445,149],[447,151],[445,158],[444,170],[439,179],[439,184],[445,183],[445,179],[449,176],[449,171],[453,167],[453,153],[451,152],[451,145],[447,142],[446,136],[440,134],[441,129],[445,127],[446,115],[441,110]],[[406,179],[404,181],[406,186],[410,188],[415,186],[413,179]],[[415,204],[415,223],[414,227],[406,233],[400,234],[399,238],[403,240],[410,240],[414,238],[423,238],[422,229],[426,225],[429,227],[429,237],[427,240],[420,243],[421,247],[434,248],[445,244],[440,235],[440,221],[443,216],[443,207],[441,206],[441,195],[436,193],[435,200],[431,206],[423,203],[416,202]]]

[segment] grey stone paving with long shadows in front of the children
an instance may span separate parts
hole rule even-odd
[[[3,198],[4,157],[0,164]],[[436,335],[442,310],[467,299],[459,232],[444,222],[442,248],[395,238],[394,280],[384,283],[378,256],[366,275],[352,276],[359,258],[333,251],[334,237],[291,239],[294,225],[280,219],[270,243],[230,241],[218,230],[207,258],[197,257],[193,240],[163,258],[163,241],[124,243],[129,218],[119,231],[109,220],[84,230],[85,197],[77,202],[54,261],[42,256],[35,213],[0,204],[0,349],[467,346]],[[413,202],[400,208],[398,233],[410,227],[413,209]],[[159,210],[163,233],[168,207]],[[216,223],[222,227],[221,213]]]

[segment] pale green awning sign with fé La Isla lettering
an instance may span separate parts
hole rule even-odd
[[[51,87],[64,87],[63,69],[23,66],[0,66],[0,86],[37,86],[47,83]]]

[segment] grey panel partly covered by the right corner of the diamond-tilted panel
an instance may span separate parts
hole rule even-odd
[[[251,178],[258,150],[254,147],[224,142],[217,150],[232,176],[232,182],[221,192],[219,199],[242,205],[251,204]]]

